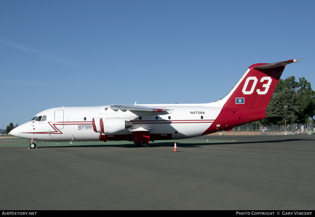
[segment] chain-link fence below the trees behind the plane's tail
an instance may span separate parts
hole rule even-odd
[[[259,125],[255,122],[236,126],[231,132],[258,132],[260,134],[312,134],[315,125],[311,123]]]

